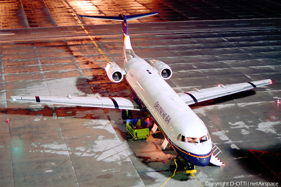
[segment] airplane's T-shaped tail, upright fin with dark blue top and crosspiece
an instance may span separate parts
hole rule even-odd
[[[156,15],[156,14],[158,14],[158,12],[135,14],[135,15],[129,15],[129,16],[125,16],[124,14],[119,14],[119,16],[83,16],[83,15],[79,15],[79,16],[80,17],[86,17],[86,18],[96,18],[96,19],[104,19],[104,20],[112,20],[112,21],[122,22],[122,31],[123,31],[123,40],[124,40],[123,49],[126,52],[128,52],[131,55],[136,57],[136,54],[134,53],[134,51],[132,49],[132,46],[131,46],[127,21],[139,19],[139,18],[143,18],[143,17],[148,17],[148,16],[153,16],[153,15]]]

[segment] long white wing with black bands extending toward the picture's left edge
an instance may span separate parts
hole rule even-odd
[[[36,103],[50,103],[74,105],[82,107],[117,108],[123,110],[140,110],[139,105],[131,98],[108,97],[46,97],[46,96],[11,96],[13,101],[25,101]]]

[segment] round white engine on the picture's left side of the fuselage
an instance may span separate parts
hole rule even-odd
[[[121,69],[115,62],[108,62],[105,66],[106,74],[111,82],[119,83],[126,74],[125,70]]]

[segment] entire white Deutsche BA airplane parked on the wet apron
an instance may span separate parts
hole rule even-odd
[[[105,70],[108,78],[114,83],[121,82],[125,76],[132,91],[130,98],[106,98],[100,97],[98,94],[95,97],[71,97],[68,94],[66,97],[11,96],[12,99],[14,101],[123,109],[123,119],[126,119],[127,115],[131,118],[131,110],[144,110],[149,113],[165,136],[165,142],[168,142],[190,164],[206,166],[211,162],[214,165],[222,165],[222,162],[218,163],[213,159],[209,132],[189,105],[272,84],[272,81],[266,79],[225,86],[220,84],[213,88],[200,90],[195,88],[190,92],[175,93],[165,81],[172,76],[171,68],[159,60],[146,62],[137,56],[131,47],[127,21],[156,14],[158,12],[130,16],[124,14],[110,17],[81,16],[122,22],[123,68],[114,62],[109,62]]]

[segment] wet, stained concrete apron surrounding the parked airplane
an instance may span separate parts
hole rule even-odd
[[[104,70],[107,61],[122,65],[120,23],[77,14],[150,11],[160,13],[129,23],[132,47],[147,61],[170,65],[173,76],[167,82],[176,92],[274,82],[191,106],[221,149],[225,166],[196,167],[196,173],[186,174],[178,163],[178,172],[164,186],[241,186],[244,181],[280,186],[281,170],[274,167],[281,160],[279,3],[21,0],[0,7],[0,186],[158,187],[173,174],[176,155],[161,149],[163,136],[157,132],[149,141],[132,141],[120,110],[14,103],[10,98],[128,96],[125,81],[111,83]],[[269,169],[254,156],[258,152],[249,150],[271,152],[261,157],[271,163]]]

